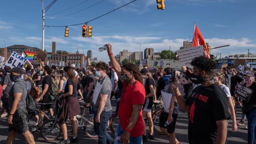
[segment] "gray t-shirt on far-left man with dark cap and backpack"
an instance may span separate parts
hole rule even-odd
[[[10,105],[10,108],[12,108],[12,104],[13,104],[13,101],[14,101],[13,94],[22,93],[21,101],[18,105],[18,109],[26,109],[26,95],[27,95],[26,87],[27,87],[26,82],[22,78],[17,79],[14,82],[14,84],[12,85],[12,88],[9,91],[9,105]]]

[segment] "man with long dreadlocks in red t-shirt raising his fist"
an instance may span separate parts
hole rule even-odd
[[[142,144],[144,120],[142,106],[145,100],[145,88],[138,67],[134,64],[124,65],[122,68],[112,53],[112,46],[106,44],[112,67],[118,77],[124,82],[121,99],[119,102],[119,125],[115,136],[121,135],[123,144]]]

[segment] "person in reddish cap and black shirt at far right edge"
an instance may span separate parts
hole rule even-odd
[[[253,144],[256,135],[256,82],[252,72],[244,75],[244,85],[253,90],[250,97],[243,100],[242,112],[248,120],[248,144]]]

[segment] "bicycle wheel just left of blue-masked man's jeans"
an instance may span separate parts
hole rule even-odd
[[[82,120],[84,123],[83,130],[85,131],[85,134],[90,138],[97,138],[98,135],[96,132],[94,132],[94,119],[93,117],[89,117],[88,121]]]

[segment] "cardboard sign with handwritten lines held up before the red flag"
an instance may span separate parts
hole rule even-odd
[[[179,63],[181,66],[187,66],[189,68],[191,61],[198,56],[203,55],[203,46],[189,47],[182,50],[177,50],[179,57]]]

